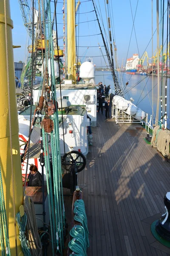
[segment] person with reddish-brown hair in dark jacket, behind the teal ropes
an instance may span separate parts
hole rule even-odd
[[[38,172],[37,166],[31,164],[28,175],[28,186],[42,186],[42,175]]]

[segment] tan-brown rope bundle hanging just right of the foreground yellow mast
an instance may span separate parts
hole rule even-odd
[[[27,215],[27,234],[32,256],[42,256],[42,244],[37,229],[34,202],[27,195],[24,196],[24,212]]]

